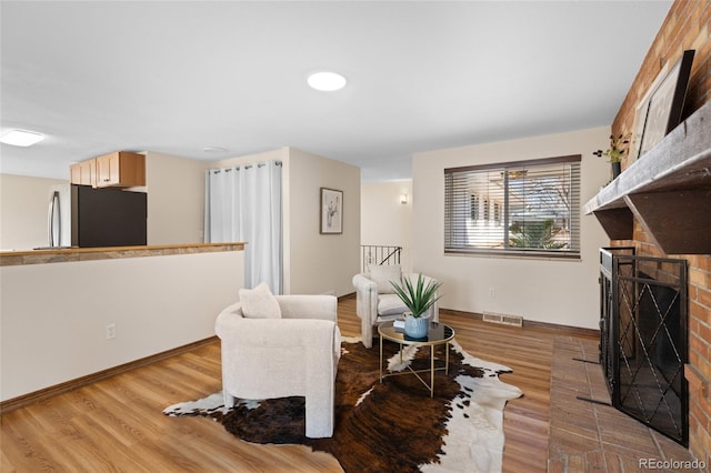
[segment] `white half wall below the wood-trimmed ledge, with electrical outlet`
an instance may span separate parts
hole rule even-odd
[[[0,399],[214,335],[242,266],[229,251],[0,268]]]

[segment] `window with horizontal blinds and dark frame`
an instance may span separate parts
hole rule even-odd
[[[444,252],[580,258],[580,155],[444,170]]]

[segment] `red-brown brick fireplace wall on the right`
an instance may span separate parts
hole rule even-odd
[[[643,8],[643,6],[640,6]],[[634,127],[638,104],[668,62],[674,63],[687,49],[695,56],[689,80],[683,118],[711,100],[711,1],[675,0],[660,28],[640,71],[612,123],[614,134]],[[622,163],[624,169],[627,163]],[[710,236],[711,238],[711,236]],[[640,255],[667,256],[639,222],[633,242]],[[711,255],[671,255],[689,262],[689,447],[694,456],[711,461]]]

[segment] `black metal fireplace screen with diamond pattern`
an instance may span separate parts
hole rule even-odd
[[[600,362],[612,405],[688,446],[687,261],[600,251]]]

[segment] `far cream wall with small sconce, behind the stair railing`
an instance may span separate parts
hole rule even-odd
[[[408,203],[400,198],[408,194]],[[402,246],[400,264],[412,271],[412,181],[391,181],[361,187],[361,244]]]

